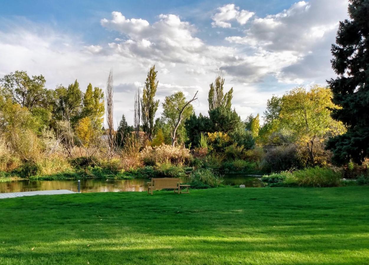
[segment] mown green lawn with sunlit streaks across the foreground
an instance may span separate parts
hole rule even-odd
[[[0,264],[368,264],[369,186],[0,200]]]

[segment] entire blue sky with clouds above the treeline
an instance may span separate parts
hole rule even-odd
[[[242,119],[268,98],[335,77],[330,47],[347,0],[23,1],[0,0],[0,78],[42,74],[46,87],[78,80],[105,90],[114,78],[114,116],[133,121],[134,95],[155,64],[156,97],[183,91],[207,114],[219,71]],[[162,112],[158,109],[156,116]]]

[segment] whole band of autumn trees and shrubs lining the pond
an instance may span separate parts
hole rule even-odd
[[[232,108],[233,88],[224,91],[220,72],[209,86],[208,116],[194,112],[197,92],[188,100],[181,91],[165,97],[157,115],[154,65],[135,94],[134,124],[128,126],[123,115],[115,129],[112,72],[105,95],[92,84],[82,92],[77,80],[55,90],[45,82],[42,75],[24,71],[0,80],[2,182],[186,173],[193,188],[218,187],[225,173],[267,174],[268,186],[331,187],[342,185],[341,178],[369,182],[367,158],[335,165],[334,154],[325,150],[332,137],[348,129],[332,118],[339,106],[329,87],[296,87],[273,95],[261,125],[259,114],[241,120]]]

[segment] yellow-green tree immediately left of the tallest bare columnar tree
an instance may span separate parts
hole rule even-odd
[[[94,124],[94,128],[101,128],[105,112],[104,92],[101,88],[95,87],[92,90],[91,83],[87,86],[83,97],[82,116],[89,117]]]

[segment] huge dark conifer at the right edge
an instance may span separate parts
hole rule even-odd
[[[332,161],[358,164],[369,156],[369,0],[350,0],[350,20],[341,21],[332,45],[332,68],[338,74],[328,81],[334,109],[332,117],[347,126],[347,132],[331,138],[327,149]]]

